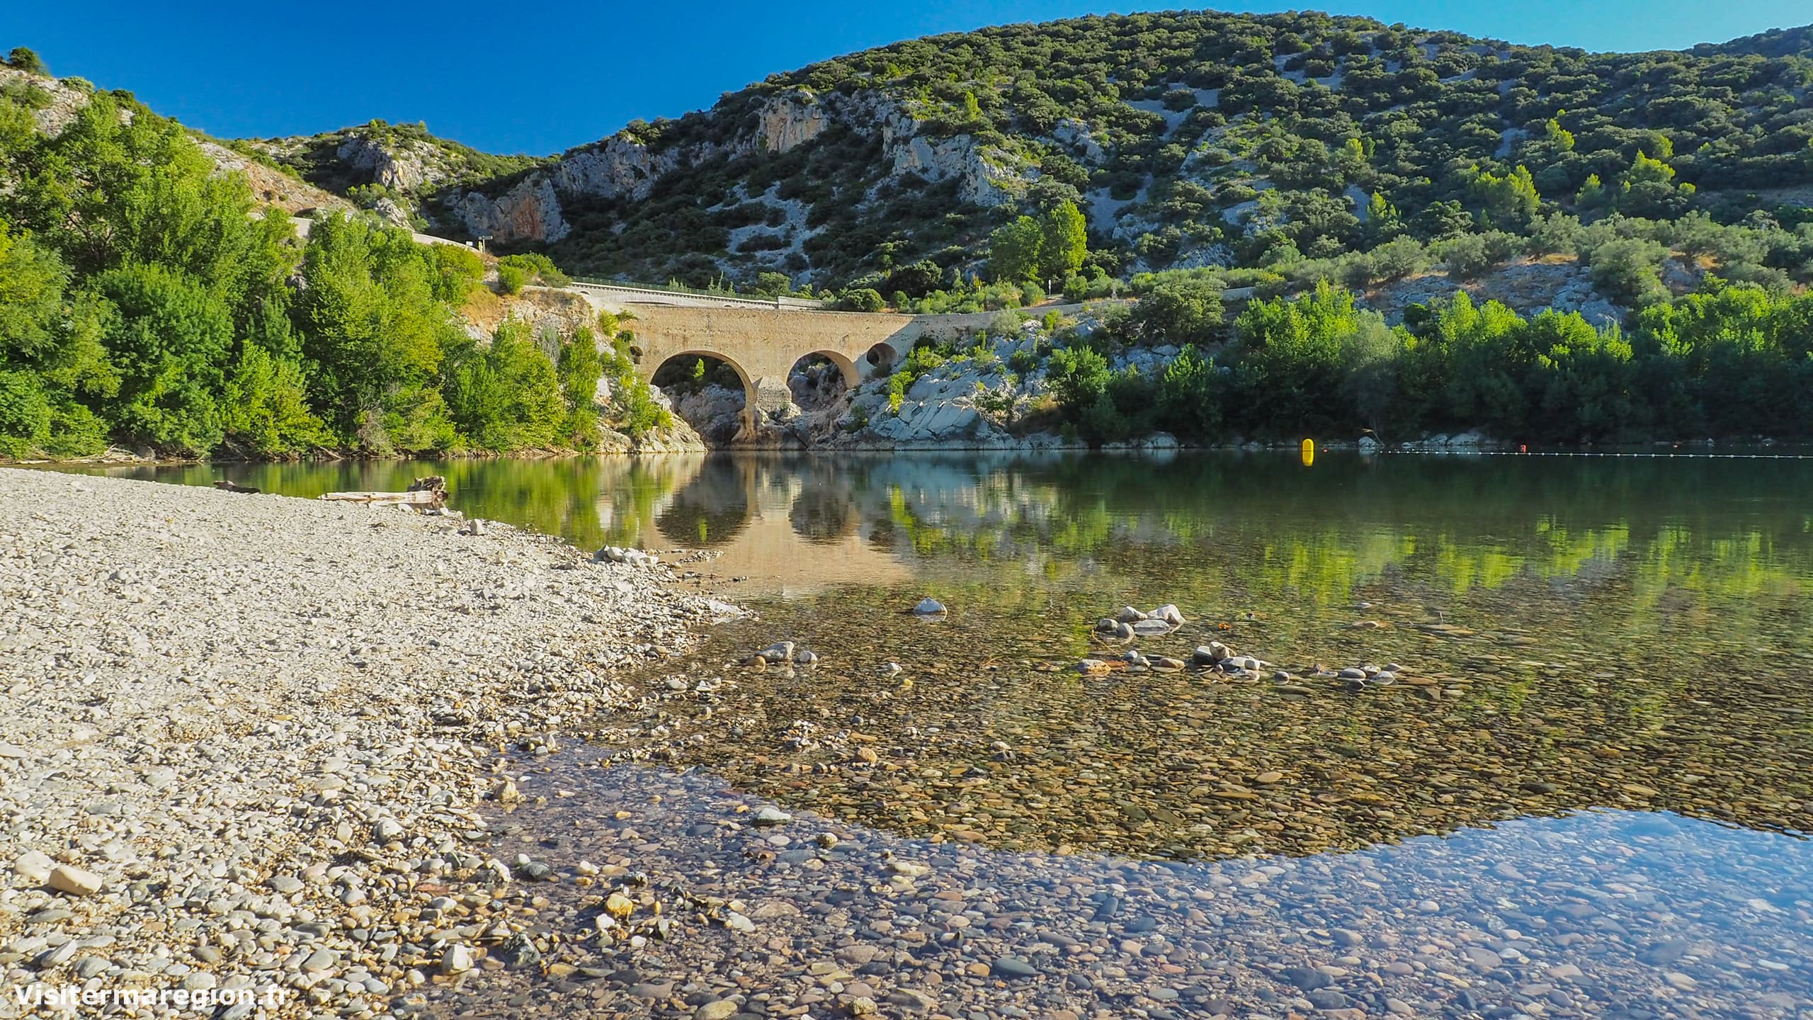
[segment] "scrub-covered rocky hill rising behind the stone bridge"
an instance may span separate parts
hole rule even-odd
[[[1528,234],[1545,212],[1791,227],[1773,205],[1813,183],[1808,40],[1592,54],[1316,13],[1091,16],[856,53],[508,169],[446,171],[397,129],[265,151],[573,272],[977,269],[1006,211],[1073,200],[1086,272],[1128,276]]]

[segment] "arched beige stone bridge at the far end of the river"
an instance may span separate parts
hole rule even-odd
[[[593,307],[629,312],[636,336],[636,367],[644,381],[674,358],[716,358],[743,381],[743,436],[754,436],[760,412],[792,403],[787,376],[801,358],[829,358],[848,387],[870,374],[887,374],[896,359],[926,334],[986,327],[999,312],[954,316],[896,316],[885,312],[825,312],[776,307],[772,299],[664,294],[629,287],[575,283]],[[1073,312],[1081,305],[1052,305]]]

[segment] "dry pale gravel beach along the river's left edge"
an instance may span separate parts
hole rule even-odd
[[[372,1016],[470,966],[509,886],[499,751],[553,750],[734,610],[461,526],[0,470],[0,1016],[69,987]]]

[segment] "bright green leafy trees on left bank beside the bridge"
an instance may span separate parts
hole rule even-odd
[[[303,245],[225,149],[129,93],[54,83],[29,51],[9,64],[0,456],[600,441],[600,378],[633,379],[615,321],[598,323],[607,343],[591,325],[551,336],[520,319],[475,336],[459,314],[484,276],[475,252],[344,212],[321,214]],[[520,285],[537,260],[504,269]]]

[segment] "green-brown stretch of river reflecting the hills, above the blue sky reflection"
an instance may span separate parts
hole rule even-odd
[[[606,735],[894,831],[1146,857],[1356,849],[1581,808],[1813,831],[1813,461],[713,456],[152,474],[296,495],[444,474],[466,514],[587,548],[718,550],[698,583],[758,619],[649,677],[727,677],[711,719],[680,711],[653,737],[600,721]],[[901,613],[923,595],[952,612]],[[1247,681],[1073,668],[1124,652],[1091,637],[1099,617],[1160,603],[1189,623],[1139,639],[1144,653],[1222,641],[1275,666]],[[727,670],[776,639],[821,664]],[[1407,673],[1382,690],[1305,679],[1391,662]],[[1296,677],[1284,693],[1275,668]],[[868,764],[861,746],[879,768],[845,768]]]

